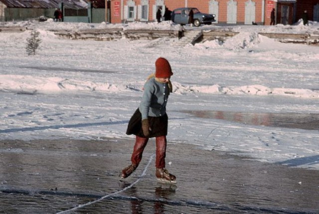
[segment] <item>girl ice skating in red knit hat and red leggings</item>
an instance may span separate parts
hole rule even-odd
[[[144,93],[140,106],[132,115],[126,134],[136,135],[131,156],[131,164],[120,174],[121,179],[129,177],[139,166],[143,151],[149,138],[156,139],[156,177],[159,181],[176,183],[176,177],[165,169],[166,135],[168,117],[166,104],[172,92],[170,77],[173,75],[169,62],[158,58],[155,62],[155,74],[150,75],[144,85]]]

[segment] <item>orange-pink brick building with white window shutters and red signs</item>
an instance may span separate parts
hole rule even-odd
[[[161,7],[197,7],[216,15],[215,24],[270,24],[270,13],[276,10],[276,24],[293,24],[308,10],[309,19],[319,21],[319,0],[106,0],[106,20],[110,23],[156,21]]]

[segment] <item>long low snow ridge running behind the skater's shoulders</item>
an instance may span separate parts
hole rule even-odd
[[[30,94],[51,94],[63,92],[127,92],[143,88],[139,85],[114,85],[104,82],[90,82],[62,79],[57,77],[43,78],[21,75],[0,75],[0,91]],[[253,95],[253,96],[289,96],[295,98],[319,98],[319,90],[268,88],[262,85],[240,87],[221,87],[219,85],[196,86],[182,85],[173,82],[173,92],[179,95],[205,93],[219,95]]]

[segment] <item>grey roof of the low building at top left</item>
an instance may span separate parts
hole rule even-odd
[[[86,0],[0,0],[6,7],[17,8],[57,8],[63,2],[65,8],[83,9],[88,7]]]

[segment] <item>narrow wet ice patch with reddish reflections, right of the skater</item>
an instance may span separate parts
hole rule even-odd
[[[250,125],[319,130],[319,114],[316,113],[252,113],[210,110],[184,110],[200,118],[223,119]]]

